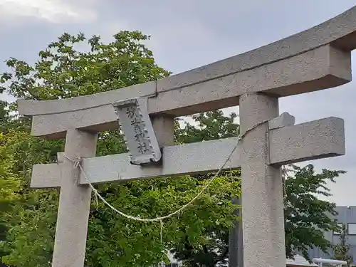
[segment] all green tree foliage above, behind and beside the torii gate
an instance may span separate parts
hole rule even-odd
[[[99,36],[87,39],[82,33],[64,33],[38,53],[33,66],[16,58],[6,61],[10,71],[0,76],[0,90],[16,98],[52,100],[163,78],[169,72],[156,65],[152,51],[142,44],[148,38],[137,31],[121,31],[105,44]],[[0,253],[4,262],[14,266],[48,267],[53,253],[58,190],[33,190],[28,184],[32,165],[55,162],[64,143],[32,137],[31,120],[11,111],[16,111],[15,104],[0,103],[0,203],[9,207],[0,211],[0,227],[6,231],[6,236],[1,237],[4,242],[0,242]],[[239,133],[234,113],[225,116],[216,110],[191,118],[196,125],[185,123],[178,127],[177,121],[175,142],[214,140]],[[100,132],[98,156],[125,150],[119,131]],[[290,171],[286,180],[288,256],[295,250],[305,251],[312,244],[322,249],[330,245],[320,233],[333,229],[335,223],[321,215],[325,211],[333,213],[334,204],[320,201],[313,194],[319,190],[329,194],[325,181],[340,173],[323,170],[322,174],[315,174],[311,165]],[[152,218],[187,203],[212,175],[103,184],[98,190],[125,213]],[[166,251],[172,250],[186,266],[219,266],[226,262],[229,228],[238,219],[231,199],[239,194],[239,172],[223,172],[187,211],[164,221],[162,229],[160,223],[118,216],[93,199],[85,265],[152,266],[167,261]],[[310,217],[311,223],[307,221]],[[308,229],[312,224],[320,231]]]

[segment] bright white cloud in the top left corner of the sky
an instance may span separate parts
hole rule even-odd
[[[16,21],[19,17],[35,17],[52,23],[62,21],[90,22],[97,17],[90,4],[81,1],[68,3],[65,0],[0,0],[2,23]],[[90,1],[89,1],[90,2]],[[93,5],[91,5],[93,7]]]

